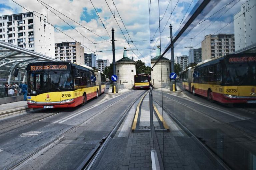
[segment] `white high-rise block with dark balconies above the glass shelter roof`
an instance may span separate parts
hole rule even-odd
[[[54,57],[54,28],[35,11],[0,16],[0,40]]]

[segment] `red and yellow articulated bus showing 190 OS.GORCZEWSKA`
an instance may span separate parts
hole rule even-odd
[[[29,108],[85,105],[106,88],[103,73],[69,62],[30,63],[27,77]]]

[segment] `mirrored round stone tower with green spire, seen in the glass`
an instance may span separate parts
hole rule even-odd
[[[157,56],[151,59],[151,66],[153,66],[158,58],[160,57],[160,49],[157,49]],[[153,87],[155,88],[161,88],[162,87],[162,82],[167,82],[170,83],[170,60],[162,57],[161,59],[162,62],[158,62],[153,69],[151,69],[151,82]],[[162,69],[162,73],[161,73]],[[161,78],[162,74],[162,78]]]

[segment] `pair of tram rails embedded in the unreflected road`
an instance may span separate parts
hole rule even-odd
[[[129,93],[129,94],[124,93],[124,96],[121,97],[120,99],[118,99],[115,104],[117,104],[117,102],[120,102],[120,101],[124,100],[126,97],[128,97],[128,96],[130,96],[130,95],[133,95],[134,93],[135,93],[134,91],[131,92],[131,93]],[[143,95],[143,93],[142,93],[141,95]],[[140,95],[140,96],[141,96],[141,95]],[[140,96],[139,96],[139,97],[140,97]],[[138,98],[139,98],[139,97],[138,97]],[[82,161],[82,164],[79,165],[79,167],[85,167],[85,166],[88,166],[88,165],[90,165],[90,166],[92,165],[92,163],[93,163],[93,162],[96,160],[96,158],[99,156],[100,151],[101,151],[101,150],[104,148],[104,146],[106,145],[107,142],[105,142],[105,141],[108,141],[108,140],[111,138],[111,136],[116,133],[118,127],[119,127],[119,126],[121,125],[121,123],[122,123],[122,120],[125,118],[127,112],[129,111],[129,109],[131,108],[132,104],[133,104],[136,100],[137,100],[137,98],[127,107],[127,109],[124,111],[124,113],[123,113],[121,119],[118,121],[118,123],[115,125],[115,127],[109,132],[109,134],[108,134],[104,139],[101,139],[101,140],[99,141],[98,146],[95,147],[95,148],[98,148],[98,149],[92,150],[89,155],[85,155],[85,156],[84,156],[84,160]],[[104,102],[107,102],[107,101],[104,101]],[[113,102],[112,104],[108,105],[108,106],[107,106],[106,108],[104,108],[103,110],[99,111],[97,114],[94,114],[94,115],[88,117],[87,119],[81,121],[79,124],[77,124],[77,125],[71,127],[70,129],[68,129],[68,130],[65,131],[64,133],[58,135],[58,136],[57,136],[56,138],[54,138],[53,140],[50,140],[50,141],[47,142],[46,144],[44,144],[44,145],[42,145],[41,147],[37,148],[36,150],[34,150],[34,151],[31,152],[30,154],[26,155],[26,156],[23,157],[22,159],[16,160],[16,161],[12,162],[8,167],[6,167],[6,169],[20,169],[20,168],[22,168],[26,163],[28,163],[28,162],[30,162],[30,161],[36,159],[39,155],[41,155],[42,153],[44,153],[45,151],[47,151],[48,149],[50,149],[54,144],[56,144],[56,143],[58,143],[59,141],[61,141],[61,139],[62,139],[65,135],[67,135],[68,133],[71,133],[73,130],[77,129],[81,124],[83,124],[83,123],[85,123],[85,122],[87,122],[87,121],[90,121],[91,119],[93,119],[95,116],[97,116],[98,114],[100,114],[100,113],[103,112],[104,110],[109,109],[113,104],[114,104],[114,102]],[[92,108],[93,108],[93,106],[92,106],[90,109],[92,109]],[[83,112],[85,112],[85,110],[88,110],[88,109],[89,109],[89,108],[83,109]],[[81,113],[81,112],[82,112],[82,110],[79,111],[79,113]],[[74,115],[75,115],[75,114],[74,114]],[[74,116],[74,115],[73,115],[73,116]],[[104,145],[103,145],[103,144],[104,144]],[[102,148],[102,149],[100,149],[100,148]],[[94,160],[94,161],[92,162],[92,160]]]

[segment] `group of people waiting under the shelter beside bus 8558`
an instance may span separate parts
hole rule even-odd
[[[15,82],[13,84],[8,84],[8,82],[4,85],[5,89],[5,97],[12,97],[19,95],[24,95],[24,101],[27,100],[27,85],[22,82],[22,84],[17,85]]]

